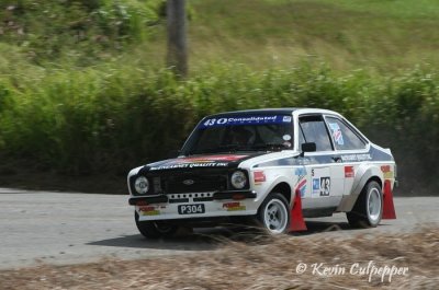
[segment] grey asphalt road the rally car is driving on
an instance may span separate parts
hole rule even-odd
[[[439,225],[439,197],[396,197],[395,207],[397,219],[384,220],[375,229],[352,230],[341,213],[307,219],[308,232],[297,239],[373,235]],[[0,188],[0,269],[209,252],[218,247],[218,241],[243,236],[216,228],[180,233],[172,240],[147,241],[137,232],[127,196]]]

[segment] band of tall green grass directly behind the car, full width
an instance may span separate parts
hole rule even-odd
[[[384,78],[226,65],[180,81],[167,70],[117,63],[35,76],[20,86],[0,82],[0,149],[46,169],[125,173],[166,158],[207,114],[296,106],[340,112],[391,147],[407,190],[439,174],[439,77],[431,69]]]

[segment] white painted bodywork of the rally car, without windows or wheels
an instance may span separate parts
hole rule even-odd
[[[323,114],[323,116],[329,115],[345,120],[356,130],[356,132],[358,132],[359,136],[361,136],[362,139],[367,141],[365,148],[361,150],[306,152],[301,155],[297,124],[300,116],[308,114]],[[167,193],[164,193],[165,195],[168,195],[168,198],[170,199],[175,198],[172,196],[181,196],[181,198],[187,198],[188,201],[181,204],[158,202],[136,205],[135,209],[139,214],[139,221],[254,216],[258,212],[258,208],[266,197],[278,186],[281,186],[282,188],[286,188],[288,186],[290,193],[282,194],[286,194],[289,197],[290,206],[293,205],[295,194],[300,193],[302,197],[302,208],[304,210],[314,210],[317,212],[317,216],[318,209],[330,209],[331,212],[348,212],[352,210],[362,188],[371,178],[379,181],[382,186],[385,179],[390,181],[392,186],[395,183],[396,167],[391,151],[370,142],[340,114],[326,109],[301,108],[292,111],[291,116],[294,126],[293,147],[291,150],[267,152],[264,154],[249,156],[244,159],[236,166],[237,170],[244,170],[248,173],[248,190],[256,194],[255,198],[246,198],[243,200],[223,199],[195,201],[195,195],[203,194],[204,196],[212,197],[214,192],[182,193],[181,195],[168,195]],[[224,156],[226,158],[228,155]],[[339,161],[331,161],[333,156],[339,158]],[[201,158],[202,156],[200,156],[200,159]],[[179,162],[181,160],[184,161],[185,159],[188,159],[188,156],[181,155],[169,162]],[[288,164],[281,164],[281,161],[284,161]],[[164,163],[151,163],[146,166],[136,167],[130,172],[128,189],[133,200],[142,198],[142,196],[133,193],[130,181],[138,174],[142,174],[143,170],[148,172],[147,167],[155,166],[155,164]],[[261,174],[261,172],[263,173],[263,182],[255,182],[256,172],[258,174]],[[156,195],[150,196],[155,197]],[[180,214],[178,206],[183,204],[203,204],[205,212]],[[326,213],[323,213],[323,216]]]

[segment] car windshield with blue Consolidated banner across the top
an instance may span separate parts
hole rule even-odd
[[[293,124],[288,115],[206,118],[195,128],[182,153],[292,149]]]

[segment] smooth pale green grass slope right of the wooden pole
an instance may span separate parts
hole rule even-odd
[[[437,1],[191,1],[192,62],[326,62],[385,73],[439,63]]]

